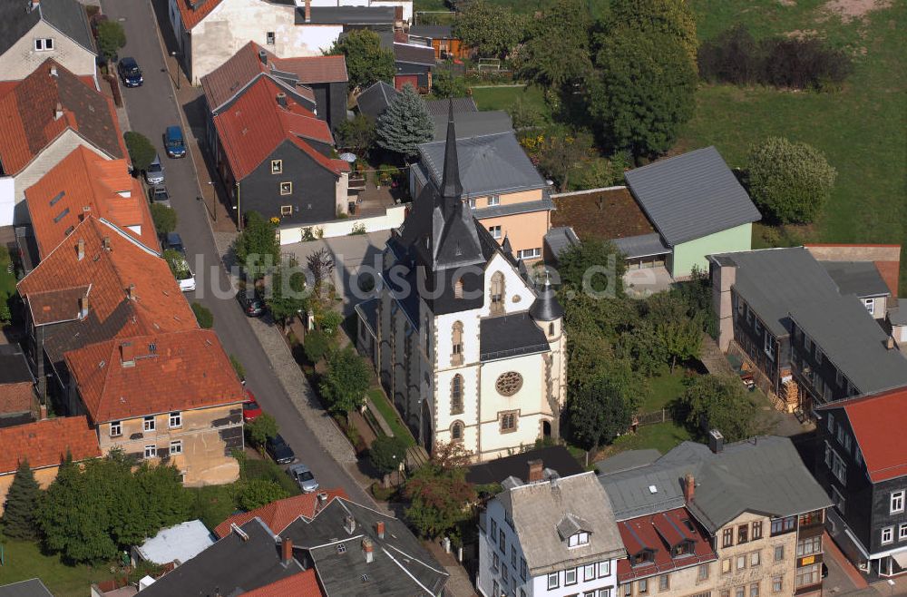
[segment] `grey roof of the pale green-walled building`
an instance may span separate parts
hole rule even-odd
[[[624,177],[671,247],[762,217],[714,147],[656,161]]]

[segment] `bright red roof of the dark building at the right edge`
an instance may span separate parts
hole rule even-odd
[[[820,410],[844,408],[873,483],[907,475],[907,387],[839,400]]]

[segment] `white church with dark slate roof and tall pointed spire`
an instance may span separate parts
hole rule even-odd
[[[443,174],[387,241],[379,296],[357,309],[374,318],[360,318],[359,335],[422,445],[460,442],[482,461],[558,436],[566,338],[550,286],[534,289],[509,242],[473,217],[459,164],[475,156],[458,159],[453,116],[448,126]]]

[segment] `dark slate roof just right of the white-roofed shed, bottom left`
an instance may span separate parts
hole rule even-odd
[[[239,595],[303,572],[292,559],[280,559],[280,545],[258,519],[242,525],[248,539],[230,533],[143,589],[141,597],[171,595]]]

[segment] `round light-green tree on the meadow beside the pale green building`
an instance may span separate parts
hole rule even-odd
[[[784,137],[769,137],[749,153],[750,195],[783,224],[813,221],[828,201],[836,176],[822,152]]]

